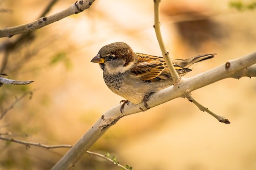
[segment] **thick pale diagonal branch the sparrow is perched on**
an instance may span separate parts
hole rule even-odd
[[[150,100],[147,104],[150,107],[154,107],[178,97],[186,97],[187,93],[224,78],[238,78],[238,76],[240,78],[242,76],[248,76],[248,74],[250,74],[250,76],[256,76],[256,66],[251,66],[255,63],[256,52],[246,55],[240,59],[228,61],[225,64],[213,68],[212,70],[208,70],[191,78],[181,78],[176,86],[170,86],[169,88],[150,95]],[[144,104],[134,105],[130,103],[128,106],[124,107],[123,114],[120,113],[120,105],[114,106],[106,111],[52,169],[70,169],[108,130],[109,127],[126,115],[140,112],[140,107],[144,108]]]

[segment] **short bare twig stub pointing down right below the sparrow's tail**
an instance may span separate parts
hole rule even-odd
[[[210,109],[208,109],[207,107],[203,106],[191,94],[189,94],[189,96],[187,96],[186,98],[188,99],[188,101],[190,101],[193,104],[195,104],[198,107],[198,109],[200,109],[201,111],[206,111],[207,113],[209,113],[210,115],[215,117],[218,121],[220,121],[222,123],[226,123],[226,124],[230,123],[230,121],[226,117],[218,115],[218,114],[214,113],[213,111],[211,111]]]

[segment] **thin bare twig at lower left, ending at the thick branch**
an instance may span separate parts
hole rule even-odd
[[[72,147],[72,145],[44,145],[42,143],[27,142],[27,141],[22,141],[22,140],[18,140],[18,139],[14,139],[14,138],[1,137],[1,136],[0,136],[0,139],[4,140],[4,141],[10,141],[10,142],[15,142],[15,143],[25,145],[26,149],[29,149],[30,145],[33,145],[36,147],[42,147],[42,148],[46,148],[46,149],[71,148]]]

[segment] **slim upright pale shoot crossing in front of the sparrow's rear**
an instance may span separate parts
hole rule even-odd
[[[169,53],[167,52],[165,45],[164,45],[164,40],[162,38],[162,34],[160,31],[159,4],[160,4],[160,0],[154,0],[154,28],[155,28],[155,32],[156,32],[156,38],[158,40],[160,49],[162,51],[164,60],[170,70],[170,74],[172,75],[172,80],[175,84],[179,80],[180,76],[176,72],[174,65],[172,64],[172,60],[170,59]]]

